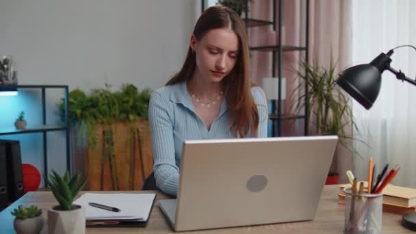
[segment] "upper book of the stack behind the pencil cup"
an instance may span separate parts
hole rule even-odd
[[[367,188],[366,181],[364,181],[364,186]],[[349,183],[339,185],[341,194],[343,194],[343,189],[345,187],[351,187],[351,185]],[[400,205],[402,207],[416,206],[416,189],[388,184],[385,189],[382,190],[382,194],[383,203]]]

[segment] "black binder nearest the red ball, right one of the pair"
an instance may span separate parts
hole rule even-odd
[[[23,196],[21,144],[17,140],[0,140],[5,144],[7,161],[8,197],[12,203]]]

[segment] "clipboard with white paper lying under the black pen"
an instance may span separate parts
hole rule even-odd
[[[82,194],[74,204],[86,209],[87,226],[146,226],[156,194]],[[99,203],[120,209],[119,212],[92,207]]]

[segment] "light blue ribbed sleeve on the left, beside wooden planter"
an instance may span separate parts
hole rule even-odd
[[[166,99],[153,92],[149,101],[148,120],[153,146],[153,172],[156,186],[166,194],[177,196],[179,168],[174,158],[173,122]]]

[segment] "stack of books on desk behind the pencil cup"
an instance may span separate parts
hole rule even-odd
[[[367,182],[364,183],[367,186]],[[345,204],[343,189],[346,187],[351,187],[351,184],[339,185],[339,204]],[[384,212],[404,214],[416,211],[416,189],[388,184],[382,193]]]

